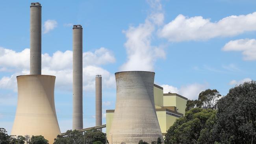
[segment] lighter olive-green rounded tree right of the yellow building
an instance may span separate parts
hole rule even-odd
[[[216,110],[193,108],[185,116],[177,119],[165,135],[165,144],[200,144],[204,143],[205,131],[210,131],[215,124]],[[209,136],[208,135],[208,136]],[[211,137],[206,143],[211,144]]]

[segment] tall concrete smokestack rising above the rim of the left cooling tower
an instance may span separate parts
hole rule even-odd
[[[30,74],[41,74],[41,10],[39,2],[30,6]]]

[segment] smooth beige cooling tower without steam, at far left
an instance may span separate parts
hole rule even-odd
[[[54,104],[55,76],[17,76],[18,104],[11,135],[43,135],[49,143],[60,134]]]

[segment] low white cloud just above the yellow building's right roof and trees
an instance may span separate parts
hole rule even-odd
[[[185,96],[189,100],[196,100],[198,98],[198,94],[206,90],[207,86],[208,84],[193,83],[191,85],[184,85],[180,87],[180,89],[178,89],[177,87],[171,85],[161,85],[161,87],[163,87],[164,93],[177,93],[182,96]]]

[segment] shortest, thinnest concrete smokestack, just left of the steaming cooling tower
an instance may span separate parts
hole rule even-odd
[[[102,125],[102,78],[101,75],[95,77],[95,109],[96,126]],[[102,131],[102,129],[99,129]]]

